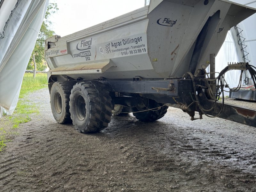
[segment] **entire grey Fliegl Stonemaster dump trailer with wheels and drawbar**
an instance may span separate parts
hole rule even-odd
[[[249,70],[254,77],[253,67],[230,63],[219,75],[214,70],[228,30],[255,12],[227,0],[152,0],[93,27],[46,39],[54,118],[89,133],[106,128],[124,108],[152,122],[175,107],[191,120],[198,112],[200,119],[256,127],[255,110],[218,102],[227,86],[225,73]]]

